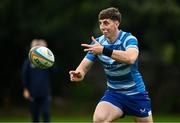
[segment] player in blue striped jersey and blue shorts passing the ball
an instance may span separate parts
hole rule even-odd
[[[119,30],[121,13],[107,8],[99,13],[102,36],[92,37],[92,44],[82,44],[87,55],[74,71],[71,81],[82,81],[96,59],[107,75],[107,90],[98,103],[93,122],[112,122],[124,115],[136,122],[152,123],[151,102],[138,71],[138,41],[131,33]]]

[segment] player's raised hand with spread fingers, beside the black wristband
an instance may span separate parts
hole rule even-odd
[[[92,41],[94,42],[94,44],[90,45],[90,44],[81,44],[81,46],[85,47],[86,49],[84,49],[85,52],[88,53],[93,53],[94,55],[99,55],[102,53],[103,51],[103,46],[99,44],[99,42],[96,41],[96,39],[92,36],[91,37]]]

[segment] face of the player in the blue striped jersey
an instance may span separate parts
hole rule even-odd
[[[119,22],[113,21],[111,19],[103,19],[103,20],[99,20],[99,27],[103,35],[106,38],[111,39],[114,36],[116,36],[119,27]]]

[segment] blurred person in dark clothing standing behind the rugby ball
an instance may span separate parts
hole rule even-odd
[[[31,48],[34,46],[45,46],[47,42],[43,39],[34,39]],[[28,58],[22,66],[23,96],[30,102],[32,122],[39,122],[42,113],[43,121],[50,122],[50,73],[55,69],[36,68]]]

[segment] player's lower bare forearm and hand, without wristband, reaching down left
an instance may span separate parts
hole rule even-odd
[[[91,60],[84,58],[75,71],[72,70],[69,72],[70,80],[82,81],[84,79],[84,76],[89,71],[92,65],[93,65],[93,62]]]

